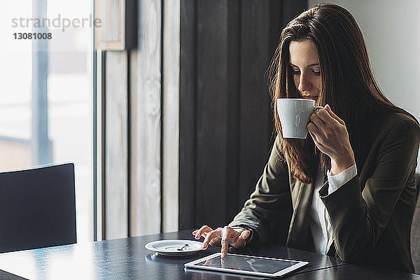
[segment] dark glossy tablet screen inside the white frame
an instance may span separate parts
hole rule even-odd
[[[269,258],[232,254],[226,255],[226,258],[222,259],[220,258],[220,254],[218,254],[214,258],[198,262],[195,265],[272,274],[296,265],[297,263],[298,262],[293,260],[273,260]]]

